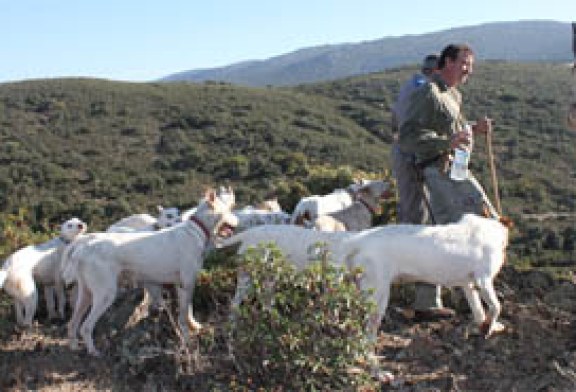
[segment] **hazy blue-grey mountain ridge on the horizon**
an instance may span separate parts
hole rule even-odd
[[[421,35],[304,48],[267,60],[197,69],[162,81],[224,81],[240,85],[295,85],[414,64],[451,42],[467,42],[479,60],[568,61],[572,30],[554,21],[495,22]]]

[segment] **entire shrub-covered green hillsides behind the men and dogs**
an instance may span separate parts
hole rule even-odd
[[[240,205],[275,192],[290,210],[302,194],[329,191],[330,175],[344,185],[355,171],[388,169],[389,108],[413,71],[294,88],[0,84],[1,211],[26,208],[35,223],[77,215],[101,228],[156,204],[190,207],[204,186],[224,181]],[[563,65],[488,62],[463,89],[468,117],[496,121],[502,202],[521,228],[519,254],[548,246],[564,252],[559,258],[573,255],[574,219],[525,219],[576,211],[576,134],[564,125],[570,83]],[[482,141],[474,155],[489,189]]]

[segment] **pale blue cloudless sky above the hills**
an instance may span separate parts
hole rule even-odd
[[[151,81],[311,46],[517,20],[570,22],[576,2],[0,0],[0,83]]]

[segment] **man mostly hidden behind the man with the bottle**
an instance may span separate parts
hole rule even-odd
[[[398,189],[398,223],[423,224],[428,219],[422,183],[417,178],[414,154],[404,153],[398,146],[398,132],[406,119],[410,95],[424,85],[438,67],[438,55],[430,54],[422,62],[422,73],[416,73],[400,88],[392,107],[395,142],[392,145],[392,173]]]

